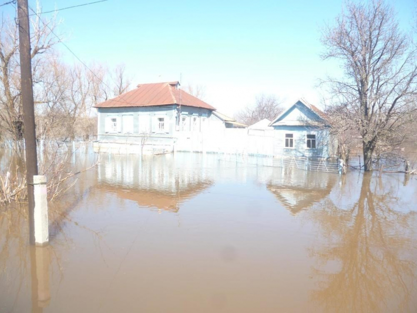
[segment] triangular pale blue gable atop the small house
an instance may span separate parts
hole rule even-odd
[[[324,119],[319,112],[322,113],[316,107],[299,100],[275,118],[270,126],[308,126],[312,123],[322,123]]]

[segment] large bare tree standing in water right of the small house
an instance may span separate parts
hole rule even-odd
[[[413,120],[416,48],[383,1],[348,2],[322,34],[324,59],[339,59],[343,78],[329,78],[332,105],[359,132],[365,170],[372,170],[377,146],[395,146]]]

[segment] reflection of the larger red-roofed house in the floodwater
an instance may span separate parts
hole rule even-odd
[[[174,162],[173,155],[110,156],[99,169],[98,187],[141,207],[177,212],[183,201],[213,183],[203,168],[189,162]]]

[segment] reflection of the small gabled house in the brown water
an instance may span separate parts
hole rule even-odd
[[[327,197],[337,179],[333,173],[282,168],[274,172],[266,187],[295,215]]]

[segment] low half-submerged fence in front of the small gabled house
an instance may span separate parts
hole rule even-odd
[[[294,168],[304,171],[316,171],[341,174],[342,166],[339,160],[303,156],[261,156],[221,154],[219,160],[242,164],[252,164],[271,167]]]

